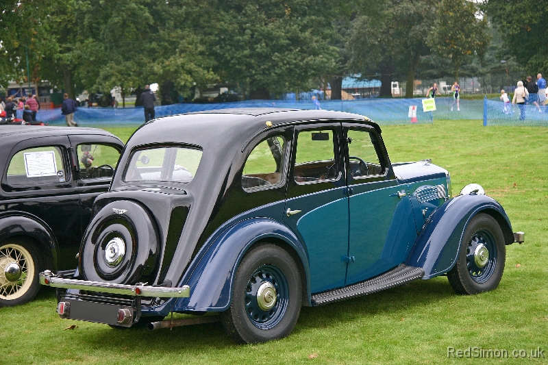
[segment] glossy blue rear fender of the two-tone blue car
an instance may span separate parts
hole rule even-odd
[[[260,240],[284,242],[297,253],[304,268],[310,299],[310,270],[306,250],[292,231],[269,218],[251,218],[236,223],[197,256],[183,282],[190,286],[190,297],[178,299],[174,312],[222,312],[229,307],[238,264],[249,247]],[[299,263],[297,262],[297,265]],[[304,283],[303,283],[304,284]]]

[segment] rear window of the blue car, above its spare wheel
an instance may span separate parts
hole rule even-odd
[[[188,147],[140,149],[132,154],[124,181],[190,182],[198,170],[202,151]]]

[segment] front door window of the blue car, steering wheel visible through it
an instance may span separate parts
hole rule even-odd
[[[369,131],[349,130],[348,137],[350,175],[356,178],[384,174],[385,167],[382,166],[375,149],[375,134]]]

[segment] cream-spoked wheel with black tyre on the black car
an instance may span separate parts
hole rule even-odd
[[[15,239],[0,243],[0,306],[32,300],[40,290],[42,266],[42,256],[33,244]]]

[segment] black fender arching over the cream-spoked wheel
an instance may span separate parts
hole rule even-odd
[[[0,214],[0,242],[15,236],[32,238],[40,244],[40,251],[47,252],[46,264],[49,270],[57,270],[58,243],[53,231],[40,218],[27,212],[5,212]],[[51,260],[51,263],[47,260]]]

